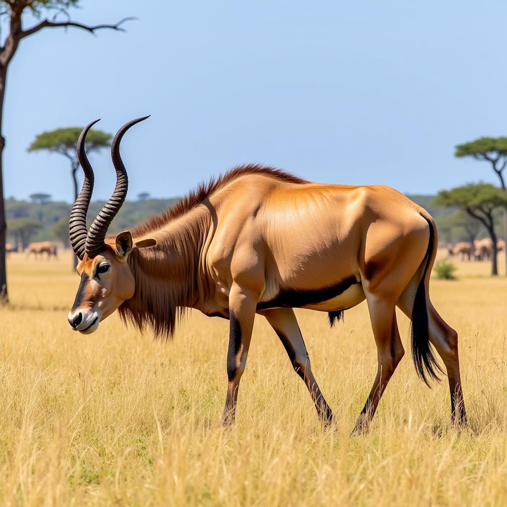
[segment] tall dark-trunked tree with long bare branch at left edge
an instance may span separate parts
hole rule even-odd
[[[8,18],[8,32],[3,42],[0,43],[0,303],[7,302],[7,278],[5,266],[5,242],[6,242],[6,221],[4,207],[4,184],[2,156],[5,148],[4,130],[2,117],[5,100],[5,89],[7,82],[7,71],[14,55],[19,49],[19,43],[39,33],[46,28],[75,27],[94,33],[100,28],[111,28],[121,30],[122,23],[131,18],[125,18],[120,22],[110,25],[85,25],[70,18],[69,9],[78,7],[80,0],[0,0],[0,21]],[[26,17],[37,18],[40,21],[31,26],[25,27]],[[45,17],[48,16],[48,17]],[[63,16],[64,20],[58,20]],[[42,19],[44,18],[44,19]]]

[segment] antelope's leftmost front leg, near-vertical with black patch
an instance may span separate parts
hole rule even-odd
[[[246,356],[252,335],[257,300],[241,287],[233,285],[229,295],[229,350],[227,352],[227,397],[225,401],[222,424],[227,426],[234,422],[236,402],[241,375],[245,370]]]

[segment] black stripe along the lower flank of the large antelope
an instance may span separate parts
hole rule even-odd
[[[355,276],[349,276],[328,287],[310,290],[298,289],[282,289],[276,298],[271,301],[261,302],[257,305],[257,310],[267,310],[268,308],[301,308],[323,301],[329,301],[344,293],[352,285],[360,283],[355,279]]]

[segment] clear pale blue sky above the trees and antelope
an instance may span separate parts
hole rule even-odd
[[[138,20],[126,33],[46,29],[21,42],[4,118],[6,196],[70,200],[67,161],[26,152],[36,134],[99,117],[114,133],[146,114],[123,143],[131,199],[182,195],[254,161],[406,193],[496,183],[453,147],[507,135],[503,1],[81,4],[75,20]],[[92,163],[105,199],[109,153]]]

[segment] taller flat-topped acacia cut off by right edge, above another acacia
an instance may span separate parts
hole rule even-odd
[[[503,173],[507,167],[507,137],[481,137],[475,141],[458,144],[454,155],[459,158],[471,157],[489,162],[498,176],[500,187],[504,192],[507,192]],[[507,243],[507,208],[503,209],[503,239]],[[507,248],[505,249],[505,261],[507,269]]]

